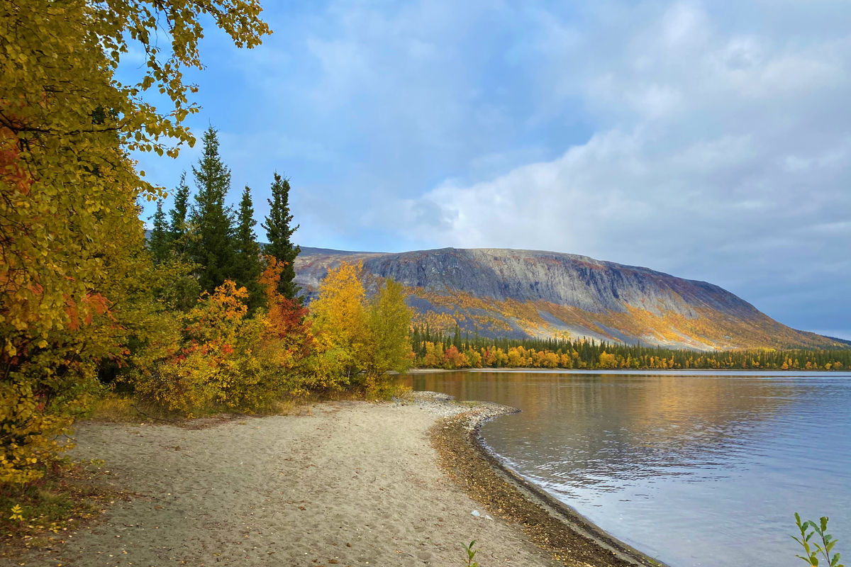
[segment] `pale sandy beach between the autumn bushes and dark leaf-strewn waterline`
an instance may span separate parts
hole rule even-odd
[[[420,397],[194,428],[83,424],[74,458],[103,459],[103,482],[131,496],[11,564],[462,565],[473,539],[482,567],[563,564],[441,467],[430,430],[469,411]]]

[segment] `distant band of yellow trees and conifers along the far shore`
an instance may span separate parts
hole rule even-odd
[[[607,343],[592,339],[483,338],[460,332],[411,332],[420,368],[586,368],[714,370],[848,370],[851,349],[694,351]]]

